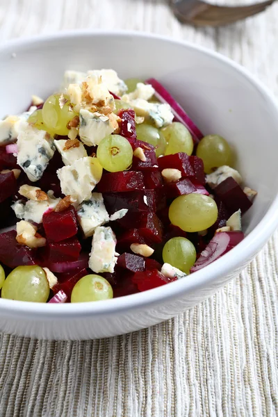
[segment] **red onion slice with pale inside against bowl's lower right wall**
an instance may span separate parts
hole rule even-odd
[[[243,238],[244,234],[242,231],[221,231],[215,234],[206,249],[199,256],[199,259],[195,262],[195,265],[190,269],[190,272],[196,272],[213,261],[216,261],[220,256],[223,256],[238,245]]]

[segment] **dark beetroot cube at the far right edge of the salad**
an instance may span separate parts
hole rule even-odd
[[[231,215],[240,208],[242,213],[248,210],[252,206],[252,202],[243,193],[242,188],[234,180],[229,177],[222,181],[217,187],[213,189],[215,195],[217,195],[225,204],[228,213]]]

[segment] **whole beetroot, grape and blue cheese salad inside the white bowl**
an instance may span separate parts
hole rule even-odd
[[[1,297],[108,300],[186,279],[244,237],[256,191],[233,163],[156,79],[66,71],[0,121]]]

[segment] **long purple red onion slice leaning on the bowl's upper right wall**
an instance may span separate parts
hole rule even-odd
[[[170,92],[167,92],[161,83],[158,83],[156,79],[148,79],[145,81],[146,84],[151,84],[154,87],[155,93],[154,95],[158,98],[159,101],[162,103],[170,104],[172,108],[172,113],[174,117],[177,119],[178,122],[184,124],[187,129],[190,131],[193,141],[198,143],[199,140],[204,138],[203,133],[197,128],[193,120],[190,119],[188,114],[183,110],[181,105],[170,95]]]

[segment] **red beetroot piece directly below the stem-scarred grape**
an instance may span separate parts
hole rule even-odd
[[[97,184],[99,193],[119,193],[143,188],[143,174],[136,171],[107,172]]]

